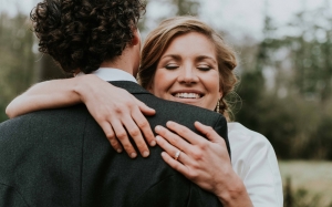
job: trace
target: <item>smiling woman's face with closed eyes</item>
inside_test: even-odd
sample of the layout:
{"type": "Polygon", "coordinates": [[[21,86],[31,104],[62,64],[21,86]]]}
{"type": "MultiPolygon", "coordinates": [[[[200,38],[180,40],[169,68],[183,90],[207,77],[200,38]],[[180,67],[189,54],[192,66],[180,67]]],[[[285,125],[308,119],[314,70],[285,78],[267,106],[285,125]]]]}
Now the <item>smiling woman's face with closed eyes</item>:
{"type": "Polygon", "coordinates": [[[149,91],[164,100],[215,110],[221,92],[212,42],[198,32],[176,37],[157,64],[149,91]]]}

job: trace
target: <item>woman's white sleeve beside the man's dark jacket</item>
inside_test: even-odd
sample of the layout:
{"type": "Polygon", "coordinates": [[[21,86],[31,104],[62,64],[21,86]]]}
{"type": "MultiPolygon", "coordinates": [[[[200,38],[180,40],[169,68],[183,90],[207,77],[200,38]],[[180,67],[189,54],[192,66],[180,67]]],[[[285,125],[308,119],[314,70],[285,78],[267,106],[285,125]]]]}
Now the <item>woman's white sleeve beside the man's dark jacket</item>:
{"type": "Polygon", "coordinates": [[[270,142],[240,123],[228,123],[231,164],[255,207],[282,207],[282,182],[270,142]]]}

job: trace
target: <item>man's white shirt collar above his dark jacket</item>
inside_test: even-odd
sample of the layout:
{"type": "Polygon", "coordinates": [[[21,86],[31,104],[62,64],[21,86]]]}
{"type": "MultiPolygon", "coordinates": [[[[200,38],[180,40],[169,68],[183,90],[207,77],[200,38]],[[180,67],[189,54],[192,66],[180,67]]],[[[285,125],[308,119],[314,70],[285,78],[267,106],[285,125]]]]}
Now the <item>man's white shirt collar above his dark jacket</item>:
{"type": "MultiPolygon", "coordinates": [[[[80,72],[75,76],[82,76],[85,73],[80,72]]],[[[94,74],[104,81],[132,81],[137,83],[136,79],[132,74],[120,69],[100,68],[98,70],[93,71],[91,74],[94,74]]]]}

